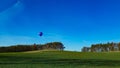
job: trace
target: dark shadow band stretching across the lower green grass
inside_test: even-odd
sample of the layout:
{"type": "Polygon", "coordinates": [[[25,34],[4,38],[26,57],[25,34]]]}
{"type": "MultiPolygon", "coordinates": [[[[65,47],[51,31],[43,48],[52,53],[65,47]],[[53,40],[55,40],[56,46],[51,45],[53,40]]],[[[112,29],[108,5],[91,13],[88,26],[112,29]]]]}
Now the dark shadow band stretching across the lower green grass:
{"type": "Polygon", "coordinates": [[[87,65],[87,66],[120,66],[119,60],[97,59],[53,59],[45,57],[0,56],[0,64],[56,64],[56,65],[87,65]]]}

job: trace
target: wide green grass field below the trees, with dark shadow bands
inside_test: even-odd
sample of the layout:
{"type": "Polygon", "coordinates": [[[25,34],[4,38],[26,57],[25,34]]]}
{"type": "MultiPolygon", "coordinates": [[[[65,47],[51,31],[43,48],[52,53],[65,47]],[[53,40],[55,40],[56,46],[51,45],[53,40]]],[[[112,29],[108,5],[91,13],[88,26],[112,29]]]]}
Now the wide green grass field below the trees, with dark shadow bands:
{"type": "Polygon", "coordinates": [[[120,68],[120,52],[33,51],[0,53],[0,68],[120,68]]]}

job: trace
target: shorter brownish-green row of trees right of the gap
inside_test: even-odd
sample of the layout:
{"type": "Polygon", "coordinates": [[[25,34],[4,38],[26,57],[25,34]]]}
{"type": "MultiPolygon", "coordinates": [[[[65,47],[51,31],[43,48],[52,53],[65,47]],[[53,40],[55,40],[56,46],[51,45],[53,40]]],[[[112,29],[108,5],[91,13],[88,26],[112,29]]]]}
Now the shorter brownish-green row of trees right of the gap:
{"type": "Polygon", "coordinates": [[[91,47],[83,47],[82,52],[110,52],[120,51],[120,43],[92,44],[91,47]]]}

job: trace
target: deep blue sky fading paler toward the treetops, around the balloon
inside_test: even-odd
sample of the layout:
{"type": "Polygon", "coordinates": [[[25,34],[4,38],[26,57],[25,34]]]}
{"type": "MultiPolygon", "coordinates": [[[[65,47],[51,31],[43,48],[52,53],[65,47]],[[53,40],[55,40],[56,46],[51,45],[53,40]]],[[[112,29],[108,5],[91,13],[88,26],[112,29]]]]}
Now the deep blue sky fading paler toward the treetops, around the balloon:
{"type": "Polygon", "coordinates": [[[0,0],[0,46],[54,41],[73,51],[120,42],[120,1],[0,0]]]}

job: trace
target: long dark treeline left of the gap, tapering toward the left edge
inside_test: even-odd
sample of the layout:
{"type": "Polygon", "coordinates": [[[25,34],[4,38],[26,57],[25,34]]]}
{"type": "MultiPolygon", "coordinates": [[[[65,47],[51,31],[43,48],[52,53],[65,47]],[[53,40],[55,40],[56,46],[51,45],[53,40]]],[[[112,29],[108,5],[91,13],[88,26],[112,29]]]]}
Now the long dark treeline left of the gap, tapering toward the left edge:
{"type": "Polygon", "coordinates": [[[51,42],[46,44],[33,44],[33,45],[14,45],[8,47],[0,47],[0,52],[23,52],[44,49],[64,50],[64,45],[61,42],[51,42]]]}

